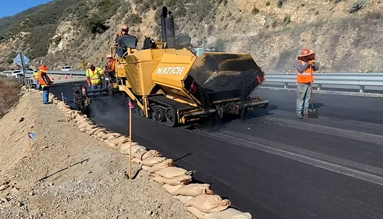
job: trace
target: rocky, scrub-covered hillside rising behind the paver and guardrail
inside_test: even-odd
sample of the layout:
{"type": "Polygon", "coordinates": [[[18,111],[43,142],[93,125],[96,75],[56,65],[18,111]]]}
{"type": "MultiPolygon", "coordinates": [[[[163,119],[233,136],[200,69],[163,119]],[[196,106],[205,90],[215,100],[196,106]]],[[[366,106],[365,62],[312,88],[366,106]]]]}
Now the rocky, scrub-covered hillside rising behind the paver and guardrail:
{"type": "Polygon", "coordinates": [[[119,27],[160,39],[162,5],[195,46],[249,52],[266,71],[293,70],[304,47],[326,72],[381,72],[381,0],[56,0],[0,20],[0,66],[25,48],[50,69],[103,64],[119,27]]]}

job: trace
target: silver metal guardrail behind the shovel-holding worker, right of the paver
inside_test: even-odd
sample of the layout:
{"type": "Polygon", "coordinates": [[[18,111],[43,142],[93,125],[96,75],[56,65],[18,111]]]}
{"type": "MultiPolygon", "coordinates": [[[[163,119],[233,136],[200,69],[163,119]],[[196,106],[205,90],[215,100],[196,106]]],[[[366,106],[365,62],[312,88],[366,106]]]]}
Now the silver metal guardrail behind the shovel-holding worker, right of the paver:
{"type": "MultiPolygon", "coordinates": [[[[296,73],[266,73],[265,82],[296,83],[296,73]]],[[[359,93],[365,92],[366,86],[383,87],[383,73],[315,73],[314,85],[321,90],[322,85],[352,85],[359,87],[359,93]]]]}

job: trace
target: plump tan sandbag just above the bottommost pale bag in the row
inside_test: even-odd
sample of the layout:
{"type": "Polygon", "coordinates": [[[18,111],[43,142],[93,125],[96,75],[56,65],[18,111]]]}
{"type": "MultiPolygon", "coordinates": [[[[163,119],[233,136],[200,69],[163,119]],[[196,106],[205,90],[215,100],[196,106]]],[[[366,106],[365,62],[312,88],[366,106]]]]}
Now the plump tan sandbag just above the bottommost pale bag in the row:
{"type": "Polygon", "coordinates": [[[220,212],[230,205],[231,202],[228,199],[222,199],[216,194],[200,194],[185,203],[185,206],[194,207],[204,213],[220,212]]]}

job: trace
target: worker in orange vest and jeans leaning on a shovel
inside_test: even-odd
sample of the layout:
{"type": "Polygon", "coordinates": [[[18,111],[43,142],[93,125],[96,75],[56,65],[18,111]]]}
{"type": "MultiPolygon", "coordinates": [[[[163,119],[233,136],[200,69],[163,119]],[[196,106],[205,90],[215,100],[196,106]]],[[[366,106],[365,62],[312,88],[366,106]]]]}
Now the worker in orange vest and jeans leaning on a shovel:
{"type": "Polygon", "coordinates": [[[314,71],[319,70],[319,64],[315,61],[315,53],[309,49],[303,49],[302,54],[296,61],[296,70],[298,75],[297,98],[296,98],[296,116],[300,119],[308,115],[311,83],[314,82],[314,71]],[[302,115],[303,112],[303,115],[302,115]]]}

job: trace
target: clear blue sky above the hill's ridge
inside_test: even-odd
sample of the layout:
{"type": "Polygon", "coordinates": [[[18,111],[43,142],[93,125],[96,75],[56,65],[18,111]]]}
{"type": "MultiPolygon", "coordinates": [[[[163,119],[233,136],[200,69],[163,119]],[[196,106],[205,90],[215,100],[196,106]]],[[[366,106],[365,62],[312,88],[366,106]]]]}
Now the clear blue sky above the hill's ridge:
{"type": "Polygon", "coordinates": [[[0,18],[15,15],[25,9],[51,1],[52,0],[0,0],[0,18]]]}

